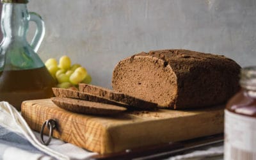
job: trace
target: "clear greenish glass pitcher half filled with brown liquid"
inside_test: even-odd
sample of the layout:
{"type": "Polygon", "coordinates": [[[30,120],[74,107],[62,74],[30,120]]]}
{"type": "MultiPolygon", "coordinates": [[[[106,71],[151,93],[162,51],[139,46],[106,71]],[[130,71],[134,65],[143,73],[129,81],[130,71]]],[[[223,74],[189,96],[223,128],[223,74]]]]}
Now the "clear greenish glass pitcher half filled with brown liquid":
{"type": "Polygon", "coordinates": [[[56,81],[49,74],[36,51],[45,33],[44,21],[28,12],[28,0],[2,0],[0,44],[0,101],[20,110],[24,100],[52,97],[56,81]],[[29,21],[36,23],[31,44],[26,40],[29,21]]]}

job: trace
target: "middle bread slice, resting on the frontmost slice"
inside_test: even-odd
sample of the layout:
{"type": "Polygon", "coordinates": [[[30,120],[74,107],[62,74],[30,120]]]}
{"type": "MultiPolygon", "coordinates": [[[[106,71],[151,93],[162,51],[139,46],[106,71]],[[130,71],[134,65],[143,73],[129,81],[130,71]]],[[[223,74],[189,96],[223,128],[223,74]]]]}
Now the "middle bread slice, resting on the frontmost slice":
{"type": "Polygon", "coordinates": [[[104,99],[102,97],[99,97],[97,95],[92,95],[89,93],[83,93],[79,92],[77,90],[70,90],[70,89],[64,89],[64,88],[52,88],[52,92],[56,97],[68,97],[72,99],[81,99],[81,100],[88,100],[92,102],[100,102],[104,104],[113,104],[116,106],[122,106],[125,108],[129,108],[128,104],[122,103],[122,102],[116,102],[114,100],[104,99]]]}

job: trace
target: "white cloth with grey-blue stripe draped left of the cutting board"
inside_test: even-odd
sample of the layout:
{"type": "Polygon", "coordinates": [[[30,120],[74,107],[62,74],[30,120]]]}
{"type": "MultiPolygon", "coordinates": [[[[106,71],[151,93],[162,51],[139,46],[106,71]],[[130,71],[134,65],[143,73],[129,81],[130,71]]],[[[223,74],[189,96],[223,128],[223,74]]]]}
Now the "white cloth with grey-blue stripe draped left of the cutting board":
{"type": "Polygon", "coordinates": [[[0,159],[86,159],[97,154],[54,138],[49,146],[42,145],[40,135],[8,102],[0,102],[0,136],[0,159]]]}

